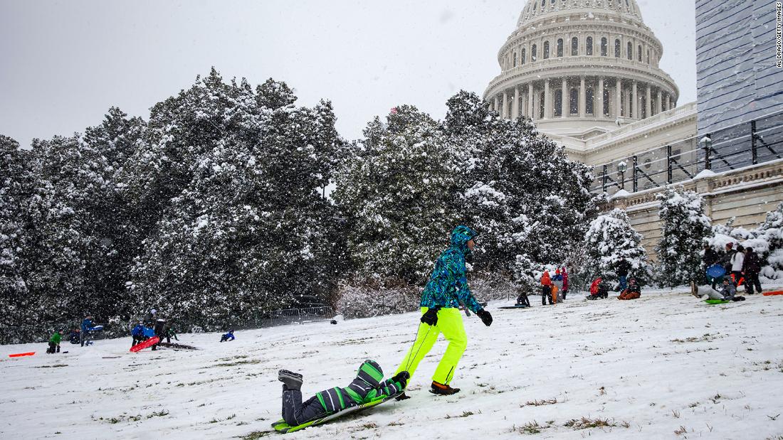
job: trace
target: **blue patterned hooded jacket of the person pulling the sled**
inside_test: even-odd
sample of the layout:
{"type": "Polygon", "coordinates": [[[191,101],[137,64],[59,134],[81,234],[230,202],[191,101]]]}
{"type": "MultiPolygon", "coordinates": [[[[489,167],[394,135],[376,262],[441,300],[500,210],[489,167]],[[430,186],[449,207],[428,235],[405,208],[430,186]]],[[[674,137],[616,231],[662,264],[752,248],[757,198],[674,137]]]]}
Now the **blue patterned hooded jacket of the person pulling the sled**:
{"type": "Polygon", "coordinates": [[[476,238],[478,234],[467,226],[458,226],[451,233],[451,246],[443,251],[435,269],[432,270],[430,281],[421,293],[421,306],[442,309],[458,308],[462,302],[474,313],[482,309],[481,304],[467,288],[467,269],[465,268],[465,256],[470,255],[467,242],[476,238]]]}

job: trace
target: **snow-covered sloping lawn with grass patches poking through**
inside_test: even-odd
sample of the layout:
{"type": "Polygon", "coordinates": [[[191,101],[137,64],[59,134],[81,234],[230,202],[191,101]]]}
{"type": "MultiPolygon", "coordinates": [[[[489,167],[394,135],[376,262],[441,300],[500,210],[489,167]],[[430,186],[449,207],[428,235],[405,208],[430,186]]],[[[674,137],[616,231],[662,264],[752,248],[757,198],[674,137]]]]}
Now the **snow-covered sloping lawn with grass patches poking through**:
{"type": "MultiPolygon", "coordinates": [[[[466,318],[460,394],[426,391],[446,349],[439,342],[413,377],[412,399],[286,438],[783,435],[783,296],[725,306],[671,292],[547,307],[531,299],[525,310],[490,304],[489,328],[466,318]],[[612,426],[566,426],[583,417],[612,426]]],[[[258,438],[280,417],[278,369],[305,374],[305,394],[348,385],[366,358],[391,373],[416,325],[409,313],[242,331],[222,344],[217,334],[182,335],[198,352],[132,354],[130,338],[65,343],[60,355],[4,345],[0,438],[258,438]]]]}

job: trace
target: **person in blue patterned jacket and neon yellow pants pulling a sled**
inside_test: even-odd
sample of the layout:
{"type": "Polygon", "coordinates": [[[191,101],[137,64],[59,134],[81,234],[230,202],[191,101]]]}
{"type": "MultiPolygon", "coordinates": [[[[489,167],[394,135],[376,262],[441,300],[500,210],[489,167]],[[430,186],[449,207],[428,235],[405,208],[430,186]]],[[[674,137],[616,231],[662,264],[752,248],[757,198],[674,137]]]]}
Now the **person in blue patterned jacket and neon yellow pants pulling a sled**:
{"type": "MultiPolygon", "coordinates": [[[[460,302],[471,309],[489,327],[492,315],[474,298],[467,287],[465,257],[471,255],[475,245],[476,231],[467,226],[458,226],[451,233],[451,245],[438,257],[430,280],[421,294],[421,318],[416,341],[400,363],[397,373],[407,371],[410,377],[419,362],[435,345],[439,334],[443,334],[449,346],[432,376],[431,392],[451,395],[460,392],[449,383],[454,377],[457,363],[467,347],[467,334],[460,313],[460,302]]],[[[408,381],[410,384],[410,380],[408,381]]],[[[407,399],[403,395],[399,399],[407,399]]]]}

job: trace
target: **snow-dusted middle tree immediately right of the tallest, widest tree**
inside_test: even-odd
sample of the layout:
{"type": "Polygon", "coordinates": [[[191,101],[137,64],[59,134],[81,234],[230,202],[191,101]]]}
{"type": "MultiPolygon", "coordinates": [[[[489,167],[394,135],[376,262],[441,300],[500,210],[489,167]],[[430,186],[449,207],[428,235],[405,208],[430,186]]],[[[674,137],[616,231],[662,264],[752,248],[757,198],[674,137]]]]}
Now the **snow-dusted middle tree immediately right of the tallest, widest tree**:
{"type": "Polygon", "coordinates": [[[348,249],[363,277],[420,283],[456,226],[449,209],[453,157],[438,123],[412,106],[376,118],[337,177],[333,197],[350,219],[348,249]]]}

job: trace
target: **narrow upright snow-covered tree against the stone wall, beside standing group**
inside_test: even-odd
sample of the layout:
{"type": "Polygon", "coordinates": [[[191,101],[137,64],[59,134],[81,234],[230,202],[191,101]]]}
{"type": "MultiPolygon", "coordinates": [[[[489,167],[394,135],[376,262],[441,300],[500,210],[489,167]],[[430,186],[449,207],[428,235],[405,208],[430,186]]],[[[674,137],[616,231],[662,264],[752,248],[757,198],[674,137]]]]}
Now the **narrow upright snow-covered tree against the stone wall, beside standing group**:
{"type": "Polygon", "coordinates": [[[712,234],[712,221],[704,213],[702,196],[682,188],[667,188],[658,196],[663,234],[655,248],[659,259],[659,281],[675,287],[700,281],[702,249],[712,234]]]}

